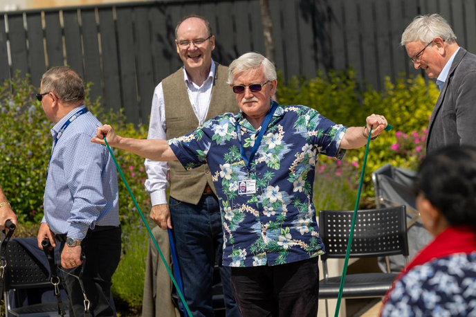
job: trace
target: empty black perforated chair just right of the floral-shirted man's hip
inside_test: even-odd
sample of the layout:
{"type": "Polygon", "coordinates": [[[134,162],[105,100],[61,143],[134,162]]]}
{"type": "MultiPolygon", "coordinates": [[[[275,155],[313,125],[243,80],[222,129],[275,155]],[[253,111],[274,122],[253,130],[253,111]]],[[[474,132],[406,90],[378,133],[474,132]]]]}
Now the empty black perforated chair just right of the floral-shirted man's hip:
{"type": "MultiPolygon", "coordinates": [[[[337,298],[340,276],[329,278],[327,259],[345,258],[354,211],[321,210],[319,230],[326,248],[321,255],[324,279],[319,282],[319,298],[337,298]]],[[[401,254],[408,261],[405,206],[358,210],[350,257],[378,257],[401,254]]],[[[396,273],[350,274],[345,278],[342,298],[385,296],[396,273]]],[[[327,301],[326,301],[327,306],[327,301]]]]}

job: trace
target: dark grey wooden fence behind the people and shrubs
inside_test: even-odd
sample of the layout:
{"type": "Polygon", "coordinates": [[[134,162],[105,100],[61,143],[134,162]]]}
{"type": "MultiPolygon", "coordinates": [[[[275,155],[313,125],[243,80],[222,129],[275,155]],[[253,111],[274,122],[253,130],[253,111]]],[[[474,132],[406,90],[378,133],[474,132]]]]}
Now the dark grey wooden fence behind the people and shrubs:
{"type": "MultiPolygon", "coordinates": [[[[287,80],[354,66],[359,82],[383,87],[413,69],[400,47],[413,17],[438,12],[458,43],[476,52],[476,0],[270,0],[276,65],[287,80]]],[[[52,66],[68,64],[104,107],[148,123],[154,87],[182,63],[174,28],[189,13],[210,20],[214,60],[229,64],[264,53],[259,0],[147,1],[0,12],[0,82],[16,70],[39,86],[52,66]]]]}

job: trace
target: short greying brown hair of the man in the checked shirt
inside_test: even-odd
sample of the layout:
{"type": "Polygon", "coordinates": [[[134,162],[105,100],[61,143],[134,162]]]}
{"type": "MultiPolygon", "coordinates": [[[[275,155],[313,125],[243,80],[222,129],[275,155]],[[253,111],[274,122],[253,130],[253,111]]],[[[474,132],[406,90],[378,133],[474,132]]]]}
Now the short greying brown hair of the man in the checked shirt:
{"type": "Polygon", "coordinates": [[[70,66],[56,66],[43,74],[43,91],[52,91],[64,105],[84,103],[84,82],[70,66]]]}

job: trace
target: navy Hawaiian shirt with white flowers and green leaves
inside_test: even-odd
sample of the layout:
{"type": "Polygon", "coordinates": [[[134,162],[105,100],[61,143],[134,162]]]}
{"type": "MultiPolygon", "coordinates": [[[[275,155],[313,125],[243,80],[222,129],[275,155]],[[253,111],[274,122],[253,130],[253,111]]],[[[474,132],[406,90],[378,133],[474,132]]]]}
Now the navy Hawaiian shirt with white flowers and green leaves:
{"type": "Polygon", "coordinates": [[[249,157],[260,129],[241,112],[223,114],[169,141],[186,170],[210,167],[226,266],[271,266],[324,254],[312,202],[315,162],[318,154],[342,159],[345,150],[338,148],[347,127],[309,107],[279,105],[248,174],[239,145],[249,157]],[[256,181],[255,194],[239,194],[245,179],[256,181]]]}

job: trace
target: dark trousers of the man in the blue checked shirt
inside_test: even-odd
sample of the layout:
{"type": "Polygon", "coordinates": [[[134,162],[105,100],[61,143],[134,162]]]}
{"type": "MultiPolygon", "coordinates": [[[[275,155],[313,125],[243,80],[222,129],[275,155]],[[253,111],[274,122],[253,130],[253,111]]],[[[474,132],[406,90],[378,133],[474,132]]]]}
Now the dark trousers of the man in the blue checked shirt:
{"type": "MultiPolygon", "coordinates": [[[[82,252],[86,255],[86,264],[82,282],[86,296],[91,302],[89,310],[93,317],[115,316],[109,298],[111,298],[111,278],[120,261],[120,228],[108,230],[89,230],[82,240],[82,252]]],[[[64,242],[61,245],[64,248],[64,242]]],[[[79,275],[81,266],[65,270],[79,275]]],[[[84,316],[84,296],[77,278],[62,273],[63,287],[68,294],[69,316],[84,316]]]]}

